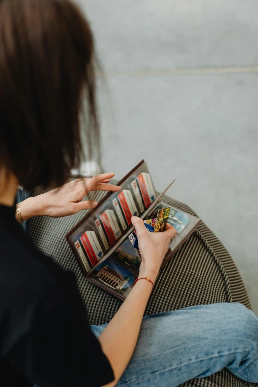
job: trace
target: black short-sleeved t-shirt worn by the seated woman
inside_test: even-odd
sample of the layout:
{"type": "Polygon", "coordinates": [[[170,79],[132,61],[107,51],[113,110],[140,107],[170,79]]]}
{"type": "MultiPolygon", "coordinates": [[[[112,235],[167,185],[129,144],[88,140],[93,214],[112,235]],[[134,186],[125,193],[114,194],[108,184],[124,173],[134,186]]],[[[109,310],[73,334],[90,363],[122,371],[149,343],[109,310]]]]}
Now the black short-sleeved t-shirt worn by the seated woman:
{"type": "Polygon", "coordinates": [[[36,250],[14,215],[0,205],[0,386],[112,382],[74,275],[36,250]]]}

